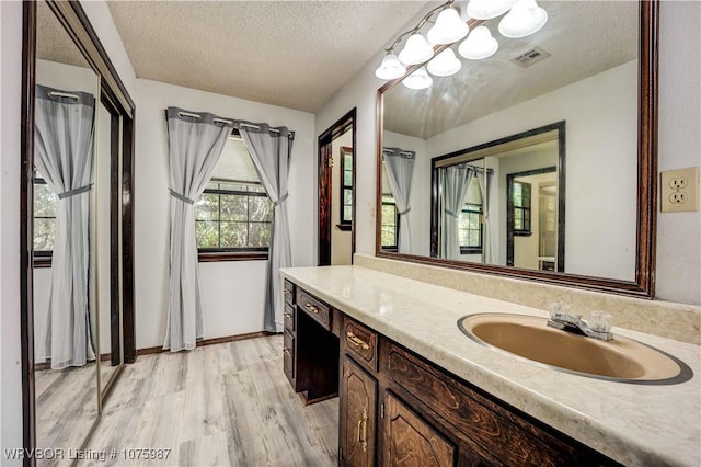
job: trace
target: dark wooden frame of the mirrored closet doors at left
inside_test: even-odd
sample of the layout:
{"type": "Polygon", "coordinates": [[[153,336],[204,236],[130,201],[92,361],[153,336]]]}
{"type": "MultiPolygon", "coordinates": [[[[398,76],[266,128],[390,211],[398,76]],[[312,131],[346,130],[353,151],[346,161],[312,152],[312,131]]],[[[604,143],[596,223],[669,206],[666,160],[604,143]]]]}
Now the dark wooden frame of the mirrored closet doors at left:
{"type": "MultiPolygon", "coordinates": [[[[105,48],[79,2],[44,0],[64,26],[83,57],[99,75],[101,94],[106,96],[122,116],[122,344],[123,365],[99,394],[97,407],[114,388],[124,363],[136,360],[134,322],[134,117],[136,105],[122,82],[105,48]]],[[[36,83],[36,3],[22,5],[22,114],[21,114],[21,180],[20,180],[20,327],[22,349],[22,444],[25,449],[36,447],[36,408],[34,387],[34,298],[33,298],[33,167],[34,167],[34,88],[36,83]]],[[[102,96],[95,96],[95,99],[102,96]]],[[[112,351],[112,350],[111,350],[112,351]]],[[[100,414],[88,434],[90,436],[100,414]]],[[[24,465],[35,465],[35,457],[25,457],[24,465]]]]}

